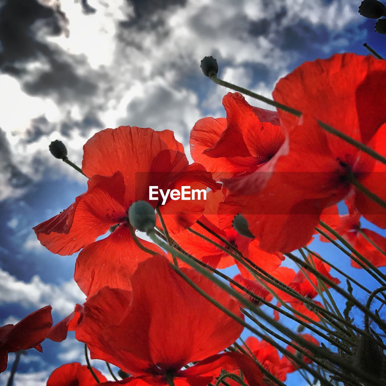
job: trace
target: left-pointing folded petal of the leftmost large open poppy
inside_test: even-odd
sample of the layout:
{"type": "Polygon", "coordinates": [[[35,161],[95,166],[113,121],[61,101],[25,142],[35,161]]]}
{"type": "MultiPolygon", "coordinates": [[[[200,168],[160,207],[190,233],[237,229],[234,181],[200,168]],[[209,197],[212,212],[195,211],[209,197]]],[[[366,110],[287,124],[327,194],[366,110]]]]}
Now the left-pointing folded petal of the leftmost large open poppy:
{"type": "Polygon", "coordinates": [[[120,173],[90,178],[88,190],[75,203],[33,228],[37,238],[49,251],[62,256],[79,251],[125,217],[124,193],[120,173]]]}

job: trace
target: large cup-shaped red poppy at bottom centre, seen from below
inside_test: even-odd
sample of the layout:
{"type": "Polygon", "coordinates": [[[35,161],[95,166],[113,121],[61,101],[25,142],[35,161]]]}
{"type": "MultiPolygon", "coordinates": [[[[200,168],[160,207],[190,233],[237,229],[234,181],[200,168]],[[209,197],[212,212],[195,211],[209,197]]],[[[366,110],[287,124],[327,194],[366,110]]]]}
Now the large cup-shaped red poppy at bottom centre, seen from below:
{"type": "MultiPolygon", "coordinates": [[[[222,289],[193,269],[181,270],[242,317],[237,302],[222,289]]],[[[173,376],[204,386],[213,379],[210,372],[218,369],[218,376],[221,368],[227,367],[241,368],[250,385],[259,384],[261,374],[255,366],[253,372],[249,369],[254,365],[250,358],[234,353],[217,355],[239,337],[243,327],[191,288],[166,257],[141,262],[131,286],[132,291],[106,287],[86,301],[75,334],[87,343],[91,358],[115,364],[151,384],[167,384],[166,378],[173,376]],[[200,362],[181,370],[195,361],[200,362]]]]}

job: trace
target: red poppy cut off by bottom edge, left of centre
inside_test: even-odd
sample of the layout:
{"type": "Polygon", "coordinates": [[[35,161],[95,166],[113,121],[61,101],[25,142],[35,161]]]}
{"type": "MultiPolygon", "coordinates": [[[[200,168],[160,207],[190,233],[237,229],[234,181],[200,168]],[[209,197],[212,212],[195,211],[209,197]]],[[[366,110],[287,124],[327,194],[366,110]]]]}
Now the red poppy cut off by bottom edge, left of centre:
{"type": "MultiPolygon", "coordinates": [[[[94,367],[93,371],[99,381],[107,381],[105,376],[94,367]]],[[[96,386],[97,384],[88,367],[82,366],[78,362],[67,363],[58,367],[52,371],[47,381],[47,386],[96,386]]]]}

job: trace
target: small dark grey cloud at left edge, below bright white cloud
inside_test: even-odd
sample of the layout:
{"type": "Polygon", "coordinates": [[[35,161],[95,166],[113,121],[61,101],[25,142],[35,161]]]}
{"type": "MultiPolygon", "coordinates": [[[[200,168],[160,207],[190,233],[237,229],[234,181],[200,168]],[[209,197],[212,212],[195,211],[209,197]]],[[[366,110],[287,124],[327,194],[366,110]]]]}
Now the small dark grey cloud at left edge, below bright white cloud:
{"type": "Polygon", "coordinates": [[[22,173],[12,162],[12,153],[5,132],[0,128],[0,169],[2,171],[2,183],[11,188],[19,189],[29,185],[30,178],[22,173]]]}

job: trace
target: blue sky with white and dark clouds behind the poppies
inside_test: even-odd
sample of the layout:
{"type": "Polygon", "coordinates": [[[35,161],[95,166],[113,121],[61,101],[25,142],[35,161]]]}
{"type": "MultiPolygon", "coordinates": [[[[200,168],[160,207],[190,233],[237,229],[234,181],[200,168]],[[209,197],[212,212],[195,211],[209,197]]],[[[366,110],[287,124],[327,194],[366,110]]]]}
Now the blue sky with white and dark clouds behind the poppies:
{"type": "MultiPolygon", "coordinates": [[[[0,0],[0,325],[47,304],[56,323],[84,300],[73,281],[76,254],[52,254],[32,231],[86,190],[84,176],[51,156],[51,141],[62,140],[81,164],[95,132],[136,125],[173,130],[188,154],[195,122],[225,116],[229,90],[202,74],[204,56],[217,58],[220,78],[270,97],[278,79],[304,61],[366,55],[364,42],[386,54],[386,37],[357,13],[360,3],[0,0]]],[[[367,280],[331,245],[312,245],[367,280]]],[[[15,386],[45,385],[61,364],[84,363],[73,334],[43,349],[22,357],[15,386]]]]}

